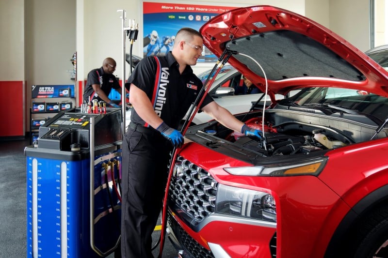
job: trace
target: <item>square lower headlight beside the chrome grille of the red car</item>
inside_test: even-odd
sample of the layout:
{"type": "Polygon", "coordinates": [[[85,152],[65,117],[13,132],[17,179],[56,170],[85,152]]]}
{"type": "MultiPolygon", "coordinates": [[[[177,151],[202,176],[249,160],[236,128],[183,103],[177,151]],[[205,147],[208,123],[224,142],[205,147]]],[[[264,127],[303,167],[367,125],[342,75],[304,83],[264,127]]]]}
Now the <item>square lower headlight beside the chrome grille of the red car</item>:
{"type": "Polygon", "coordinates": [[[215,212],[276,222],[275,198],[264,192],[219,184],[215,212]]]}

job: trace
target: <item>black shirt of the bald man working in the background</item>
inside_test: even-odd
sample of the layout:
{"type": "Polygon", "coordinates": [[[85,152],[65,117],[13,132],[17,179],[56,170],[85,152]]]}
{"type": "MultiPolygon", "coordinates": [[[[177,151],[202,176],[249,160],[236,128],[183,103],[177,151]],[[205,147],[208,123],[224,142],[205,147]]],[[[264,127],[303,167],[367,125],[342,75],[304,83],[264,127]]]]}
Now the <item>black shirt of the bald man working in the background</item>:
{"type": "Polygon", "coordinates": [[[93,84],[99,84],[101,87],[101,90],[104,91],[105,95],[109,95],[113,89],[120,89],[120,84],[118,83],[116,76],[112,74],[106,74],[104,73],[104,69],[102,69],[102,66],[97,69],[93,69],[88,74],[88,79],[86,81],[85,90],[83,91],[83,101],[88,102],[89,96],[90,100],[96,99],[98,101],[101,100],[100,97],[96,94],[96,92],[93,90],[92,85],[93,84]]]}

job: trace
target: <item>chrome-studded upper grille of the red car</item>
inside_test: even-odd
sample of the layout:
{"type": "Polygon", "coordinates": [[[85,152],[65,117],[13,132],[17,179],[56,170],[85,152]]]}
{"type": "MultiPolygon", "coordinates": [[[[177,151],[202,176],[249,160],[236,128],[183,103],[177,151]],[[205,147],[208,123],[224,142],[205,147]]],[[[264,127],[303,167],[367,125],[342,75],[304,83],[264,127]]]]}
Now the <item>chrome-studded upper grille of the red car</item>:
{"type": "Polygon", "coordinates": [[[169,197],[183,212],[200,222],[215,211],[218,182],[204,169],[178,156],[169,197]]]}

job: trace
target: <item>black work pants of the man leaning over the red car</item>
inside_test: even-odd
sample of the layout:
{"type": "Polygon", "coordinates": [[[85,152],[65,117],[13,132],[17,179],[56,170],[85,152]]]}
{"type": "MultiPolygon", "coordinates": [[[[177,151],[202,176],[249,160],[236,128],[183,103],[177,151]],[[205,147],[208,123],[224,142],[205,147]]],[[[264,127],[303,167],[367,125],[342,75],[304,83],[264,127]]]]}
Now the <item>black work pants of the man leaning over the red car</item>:
{"type": "Polygon", "coordinates": [[[172,146],[153,129],[128,128],[122,148],[121,255],[150,258],[172,146]],[[141,129],[141,131],[139,131],[141,129]]]}

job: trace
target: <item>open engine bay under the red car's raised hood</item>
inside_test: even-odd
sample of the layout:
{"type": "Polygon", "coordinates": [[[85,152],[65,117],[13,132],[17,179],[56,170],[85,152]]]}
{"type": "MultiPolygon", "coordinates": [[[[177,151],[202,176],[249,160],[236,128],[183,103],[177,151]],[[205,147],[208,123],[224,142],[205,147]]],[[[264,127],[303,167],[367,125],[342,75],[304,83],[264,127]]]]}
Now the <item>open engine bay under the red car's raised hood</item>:
{"type": "MultiPolygon", "coordinates": [[[[196,130],[196,136],[201,138],[199,141],[212,149],[221,150],[223,147],[226,148],[223,146],[226,144],[228,149],[233,149],[231,148],[233,146],[254,152],[260,157],[322,154],[356,143],[355,138],[343,133],[343,130],[298,120],[275,119],[278,116],[276,113],[269,114],[264,126],[259,116],[253,116],[245,121],[249,127],[263,132],[264,137],[259,141],[232,131],[216,121],[194,126],[191,132],[194,133],[196,130]],[[276,121],[276,125],[273,121],[276,121]]],[[[192,137],[190,133],[188,137],[192,137]]],[[[198,142],[198,139],[194,141],[198,142]]]]}

